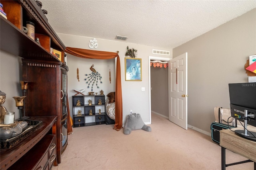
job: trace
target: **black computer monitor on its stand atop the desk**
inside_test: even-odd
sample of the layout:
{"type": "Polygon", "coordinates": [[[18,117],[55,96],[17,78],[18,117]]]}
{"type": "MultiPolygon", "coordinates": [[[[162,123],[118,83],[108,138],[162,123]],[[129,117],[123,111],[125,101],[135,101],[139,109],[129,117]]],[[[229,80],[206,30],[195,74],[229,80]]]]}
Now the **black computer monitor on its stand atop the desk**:
{"type": "Polygon", "coordinates": [[[247,132],[247,124],[256,127],[256,83],[232,83],[229,86],[230,111],[232,117],[244,121],[244,130],[236,134],[256,141],[256,132],[247,132]]]}

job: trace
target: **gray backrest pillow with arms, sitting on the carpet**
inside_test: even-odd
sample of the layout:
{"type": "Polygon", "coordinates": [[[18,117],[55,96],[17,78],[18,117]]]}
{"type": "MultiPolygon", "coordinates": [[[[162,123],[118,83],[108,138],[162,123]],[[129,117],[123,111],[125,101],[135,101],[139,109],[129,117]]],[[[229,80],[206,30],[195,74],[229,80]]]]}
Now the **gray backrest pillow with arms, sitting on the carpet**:
{"type": "Polygon", "coordinates": [[[151,131],[151,127],[145,125],[140,117],[140,114],[132,113],[127,116],[124,124],[124,134],[129,135],[132,130],[142,129],[144,131],[151,131]]]}

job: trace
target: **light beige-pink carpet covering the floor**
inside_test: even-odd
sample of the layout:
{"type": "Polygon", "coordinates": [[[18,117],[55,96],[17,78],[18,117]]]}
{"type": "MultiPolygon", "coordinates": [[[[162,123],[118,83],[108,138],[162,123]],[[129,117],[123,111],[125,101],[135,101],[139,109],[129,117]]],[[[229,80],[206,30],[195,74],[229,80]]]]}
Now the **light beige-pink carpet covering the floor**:
{"type": "MultiPolygon", "coordinates": [[[[211,137],[184,130],[152,113],[151,132],[124,134],[113,125],[73,128],[61,163],[52,170],[220,170],[221,147],[211,137]]],[[[209,125],[210,128],[210,125],[209,125]]],[[[226,163],[247,160],[226,150],[226,163]]],[[[226,170],[253,170],[253,162],[226,170]]]]}

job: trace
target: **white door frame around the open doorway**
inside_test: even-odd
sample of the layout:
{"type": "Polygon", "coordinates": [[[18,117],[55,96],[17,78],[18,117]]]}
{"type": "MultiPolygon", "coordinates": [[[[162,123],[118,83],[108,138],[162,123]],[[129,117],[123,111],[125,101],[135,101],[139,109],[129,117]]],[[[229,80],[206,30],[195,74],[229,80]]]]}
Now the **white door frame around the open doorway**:
{"type": "MultiPolygon", "coordinates": [[[[168,61],[168,100],[169,100],[169,98],[170,98],[170,92],[169,92],[169,86],[170,86],[170,81],[169,81],[169,71],[170,71],[169,70],[169,63],[170,63],[171,59],[170,58],[164,58],[164,57],[148,56],[149,124],[151,124],[151,70],[150,70],[150,60],[168,61]]],[[[168,105],[168,110],[169,110],[169,105],[168,105]]]]}

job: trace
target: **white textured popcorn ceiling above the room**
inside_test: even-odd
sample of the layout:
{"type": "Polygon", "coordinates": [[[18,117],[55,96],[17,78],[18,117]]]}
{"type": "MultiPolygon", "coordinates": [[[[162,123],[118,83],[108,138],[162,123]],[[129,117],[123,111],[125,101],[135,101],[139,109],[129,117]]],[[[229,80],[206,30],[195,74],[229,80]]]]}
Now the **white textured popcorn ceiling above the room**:
{"type": "Polygon", "coordinates": [[[56,33],[173,49],[256,8],[256,0],[40,0],[56,33]],[[122,40],[116,40],[122,41],[122,40]]]}

